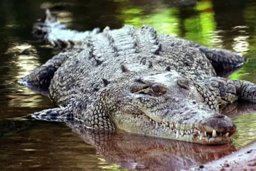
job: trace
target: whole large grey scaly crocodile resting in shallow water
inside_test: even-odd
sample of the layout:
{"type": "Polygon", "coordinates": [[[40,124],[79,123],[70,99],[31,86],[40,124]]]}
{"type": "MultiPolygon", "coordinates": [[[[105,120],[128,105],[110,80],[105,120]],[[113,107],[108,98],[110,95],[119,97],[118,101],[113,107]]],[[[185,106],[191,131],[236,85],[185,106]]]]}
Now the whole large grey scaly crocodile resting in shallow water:
{"type": "Polygon", "coordinates": [[[92,129],[223,144],[236,126],[218,105],[255,100],[253,83],[217,77],[243,65],[241,55],[158,35],[148,26],[68,30],[46,14],[33,33],[66,52],[20,80],[49,86],[59,106],[33,114],[38,119],[74,117],[92,129]]]}

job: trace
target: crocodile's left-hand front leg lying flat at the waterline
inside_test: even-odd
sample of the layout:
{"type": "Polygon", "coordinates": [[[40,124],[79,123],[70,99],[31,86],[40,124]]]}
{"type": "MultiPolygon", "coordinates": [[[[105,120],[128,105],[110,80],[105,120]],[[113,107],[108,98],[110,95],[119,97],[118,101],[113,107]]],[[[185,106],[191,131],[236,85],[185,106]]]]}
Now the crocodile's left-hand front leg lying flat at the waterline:
{"type": "Polygon", "coordinates": [[[71,121],[73,119],[73,109],[72,107],[45,109],[40,112],[33,113],[32,117],[47,121],[71,121]]]}

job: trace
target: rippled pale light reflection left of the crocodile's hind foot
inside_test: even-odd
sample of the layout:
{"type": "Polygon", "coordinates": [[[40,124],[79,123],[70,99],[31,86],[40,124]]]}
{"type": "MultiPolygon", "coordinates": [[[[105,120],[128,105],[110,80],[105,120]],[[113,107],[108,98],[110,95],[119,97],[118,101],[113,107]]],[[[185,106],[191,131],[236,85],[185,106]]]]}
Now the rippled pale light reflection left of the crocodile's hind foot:
{"type": "Polygon", "coordinates": [[[42,101],[35,92],[21,87],[18,84],[14,84],[16,80],[19,80],[23,76],[29,74],[40,65],[39,58],[36,53],[36,48],[29,44],[15,45],[6,50],[6,55],[14,56],[14,61],[12,62],[13,69],[8,72],[8,75],[14,76],[10,79],[7,78],[8,75],[6,75],[6,80],[3,83],[8,87],[8,91],[12,92],[5,96],[5,98],[8,99],[8,107],[10,108],[38,106],[42,101]],[[24,98],[27,96],[30,98],[24,98]]]}

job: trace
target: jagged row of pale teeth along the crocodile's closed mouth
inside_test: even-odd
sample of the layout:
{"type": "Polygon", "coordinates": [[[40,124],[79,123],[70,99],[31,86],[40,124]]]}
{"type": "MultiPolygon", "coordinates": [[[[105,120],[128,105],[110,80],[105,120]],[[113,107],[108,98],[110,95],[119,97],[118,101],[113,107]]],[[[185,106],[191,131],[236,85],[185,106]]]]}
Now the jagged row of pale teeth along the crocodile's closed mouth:
{"type": "Polygon", "coordinates": [[[194,138],[199,138],[199,140],[203,140],[204,138],[207,138],[208,140],[211,139],[229,139],[231,136],[231,133],[229,132],[218,132],[216,130],[212,130],[212,132],[206,132],[206,131],[200,131],[196,127],[192,127],[191,129],[177,129],[177,124],[173,124],[170,122],[156,122],[149,116],[147,116],[149,119],[150,124],[155,125],[155,128],[157,129],[158,127],[161,127],[163,129],[170,129],[176,134],[176,138],[178,136],[184,136],[184,135],[190,135],[193,136],[194,138]]]}

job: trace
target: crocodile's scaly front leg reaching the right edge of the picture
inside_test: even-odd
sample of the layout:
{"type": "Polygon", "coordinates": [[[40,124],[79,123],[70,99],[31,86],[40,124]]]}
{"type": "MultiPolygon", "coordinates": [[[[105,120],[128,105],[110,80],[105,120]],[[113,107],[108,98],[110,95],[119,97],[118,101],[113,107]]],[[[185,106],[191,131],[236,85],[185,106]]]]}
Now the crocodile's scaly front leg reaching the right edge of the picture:
{"type": "Polygon", "coordinates": [[[219,104],[236,100],[256,101],[256,84],[252,82],[214,77],[207,80],[206,84],[215,91],[219,104]]]}

